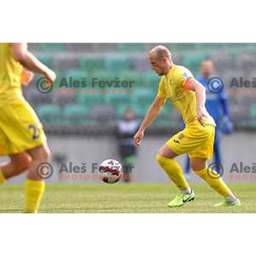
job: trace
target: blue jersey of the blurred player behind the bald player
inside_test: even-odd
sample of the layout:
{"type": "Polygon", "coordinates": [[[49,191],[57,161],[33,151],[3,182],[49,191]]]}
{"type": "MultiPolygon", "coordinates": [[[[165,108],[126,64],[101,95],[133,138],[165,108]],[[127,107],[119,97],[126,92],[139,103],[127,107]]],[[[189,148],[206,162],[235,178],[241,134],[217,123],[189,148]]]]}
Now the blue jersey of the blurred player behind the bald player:
{"type": "Polygon", "coordinates": [[[206,89],[206,102],[205,107],[208,111],[208,113],[213,117],[213,119],[216,122],[217,127],[219,126],[220,119],[221,119],[221,112],[220,112],[220,105],[222,105],[224,115],[229,116],[228,110],[227,110],[227,96],[226,93],[223,90],[220,93],[211,93],[207,88],[207,81],[209,79],[204,78],[202,76],[196,76],[195,79],[197,79],[206,89]]]}

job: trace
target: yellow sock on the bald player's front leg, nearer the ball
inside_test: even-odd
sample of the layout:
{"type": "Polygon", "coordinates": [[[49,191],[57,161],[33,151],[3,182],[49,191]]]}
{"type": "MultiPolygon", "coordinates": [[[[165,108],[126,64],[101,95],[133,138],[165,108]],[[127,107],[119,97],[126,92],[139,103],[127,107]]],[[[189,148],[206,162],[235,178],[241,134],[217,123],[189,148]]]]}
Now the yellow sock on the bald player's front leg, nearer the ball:
{"type": "Polygon", "coordinates": [[[183,171],[176,160],[157,155],[157,162],[167,173],[168,177],[181,190],[181,192],[191,191],[190,186],[183,175],[183,171]]]}

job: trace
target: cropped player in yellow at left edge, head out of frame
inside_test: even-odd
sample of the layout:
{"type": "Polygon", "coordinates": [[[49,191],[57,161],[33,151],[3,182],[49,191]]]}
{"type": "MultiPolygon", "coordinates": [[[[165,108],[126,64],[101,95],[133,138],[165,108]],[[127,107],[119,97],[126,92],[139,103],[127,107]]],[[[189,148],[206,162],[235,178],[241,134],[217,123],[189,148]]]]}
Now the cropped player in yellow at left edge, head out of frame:
{"type": "MultiPolygon", "coordinates": [[[[0,43],[0,184],[27,170],[24,212],[36,213],[45,189],[38,177],[39,163],[48,162],[50,151],[38,116],[23,98],[24,68],[55,81],[55,73],[27,50],[25,43],[0,43]]],[[[24,81],[25,82],[24,82],[24,81]]],[[[41,169],[44,172],[44,169],[41,169]]]]}

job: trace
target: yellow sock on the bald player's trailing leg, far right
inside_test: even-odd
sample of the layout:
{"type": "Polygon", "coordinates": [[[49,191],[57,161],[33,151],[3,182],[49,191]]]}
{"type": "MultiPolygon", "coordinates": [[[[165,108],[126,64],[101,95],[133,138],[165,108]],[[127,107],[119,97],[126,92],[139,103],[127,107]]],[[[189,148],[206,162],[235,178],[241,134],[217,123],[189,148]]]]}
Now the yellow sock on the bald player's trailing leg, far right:
{"type": "Polygon", "coordinates": [[[207,174],[207,168],[204,168],[199,171],[195,171],[195,173],[199,177],[204,179],[216,192],[224,196],[224,198],[236,198],[221,177],[218,179],[214,178],[214,177],[218,177],[218,174],[216,173],[216,175],[214,175],[214,172],[212,172],[212,169],[209,169],[209,173],[211,173],[212,177],[210,177],[207,174]]]}

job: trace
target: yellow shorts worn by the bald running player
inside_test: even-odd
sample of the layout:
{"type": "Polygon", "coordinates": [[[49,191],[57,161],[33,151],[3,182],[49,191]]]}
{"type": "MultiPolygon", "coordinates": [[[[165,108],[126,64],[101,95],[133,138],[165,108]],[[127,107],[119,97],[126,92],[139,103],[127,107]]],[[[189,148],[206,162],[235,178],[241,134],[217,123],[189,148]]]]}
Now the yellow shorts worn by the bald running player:
{"type": "Polygon", "coordinates": [[[167,145],[177,155],[189,154],[189,158],[212,158],[215,137],[214,125],[190,125],[175,134],[167,145]]]}

